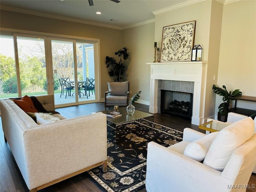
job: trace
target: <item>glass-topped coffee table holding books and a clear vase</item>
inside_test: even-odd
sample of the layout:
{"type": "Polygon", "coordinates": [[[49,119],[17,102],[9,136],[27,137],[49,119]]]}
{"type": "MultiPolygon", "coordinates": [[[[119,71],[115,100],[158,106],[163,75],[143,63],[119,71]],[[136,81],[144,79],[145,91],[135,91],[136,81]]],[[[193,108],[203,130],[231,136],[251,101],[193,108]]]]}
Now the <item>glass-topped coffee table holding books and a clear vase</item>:
{"type": "MultiPolygon", "coordinates": [[[[104,114],[107,114],[107,113],[112,112],[112,111],[113,111],[113,109],[104,110],[104,111],[101,111],[101,112],[104,113],[104,114]]],[[[133,121],[133,120],[140,119],[140,118],[146,118],[146,117],[153,116],[153,114],[142,112],[142,111],[139,111],[139,110],[136,110],[136,109],[135,109],[135,112],[134,112],[133,115],[128,115],[127,112],[126,112],[126,107],[119,108],[119,112],[122,113],[122,116],[116,117],[116,118],[107,117],[107,120],[109,122],[112,122],[113,124],[116,125],[116,143],[120,142],[119,138],[120,138],[120,135],[122,134],[122,129],[120,129],[118,127],[118,124],[133,121]]]]}

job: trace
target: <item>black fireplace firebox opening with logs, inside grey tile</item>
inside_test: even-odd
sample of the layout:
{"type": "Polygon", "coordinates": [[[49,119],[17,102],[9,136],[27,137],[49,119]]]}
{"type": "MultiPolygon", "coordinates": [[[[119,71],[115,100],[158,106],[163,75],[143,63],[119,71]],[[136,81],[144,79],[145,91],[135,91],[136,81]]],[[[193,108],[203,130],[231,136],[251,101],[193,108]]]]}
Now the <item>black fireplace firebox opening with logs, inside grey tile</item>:
{"type": "Polygon", "coordinates": [[[191,120],[193,101],[192,93],[161,90],[160,97],[161,114],[191,120]]]}

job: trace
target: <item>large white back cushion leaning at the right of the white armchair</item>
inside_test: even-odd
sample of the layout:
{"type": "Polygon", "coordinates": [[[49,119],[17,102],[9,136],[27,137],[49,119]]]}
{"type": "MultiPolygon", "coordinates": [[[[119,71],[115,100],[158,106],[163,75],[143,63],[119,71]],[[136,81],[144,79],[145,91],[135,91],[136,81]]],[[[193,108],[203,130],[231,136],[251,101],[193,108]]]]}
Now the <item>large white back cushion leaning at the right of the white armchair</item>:
{"type": "Polygon", "coordinates": [[[203,164],[222,171],[232,153],[254,134],[254,122],[247,117],[222,129],[213,140],[203,164]]]}

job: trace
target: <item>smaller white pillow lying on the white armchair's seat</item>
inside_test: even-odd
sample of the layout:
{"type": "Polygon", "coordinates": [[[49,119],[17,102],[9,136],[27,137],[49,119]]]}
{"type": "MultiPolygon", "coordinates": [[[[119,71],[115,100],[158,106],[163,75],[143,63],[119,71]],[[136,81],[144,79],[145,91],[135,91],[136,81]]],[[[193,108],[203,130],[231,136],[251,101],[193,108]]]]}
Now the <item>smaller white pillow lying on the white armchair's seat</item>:
{"type": "Polygon", "coordinates": [[[184,155],[201,162],[204,160],[214,138],[218,135],[218,133],[219,132],[213,132],[198,140],[195,140],[194,142],[191,142],[188,144],[188,146],[186,146],[184,155]]]}

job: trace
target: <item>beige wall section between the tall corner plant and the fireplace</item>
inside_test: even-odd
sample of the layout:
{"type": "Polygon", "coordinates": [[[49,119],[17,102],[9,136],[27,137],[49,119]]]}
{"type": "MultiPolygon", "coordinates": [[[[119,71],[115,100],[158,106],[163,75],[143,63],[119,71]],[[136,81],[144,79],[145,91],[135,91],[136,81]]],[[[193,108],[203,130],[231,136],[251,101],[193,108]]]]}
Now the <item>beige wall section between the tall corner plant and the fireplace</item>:
{"type": "Polygon", "coordinates": [[[130,52],[126,74],[131,96],[141,90],[138,102],[147,105],[150,100],[150,65],[146,63],[154,61],[154,28],[155,24],[150,23],[123,30],[123,46],[130,52]]]}

